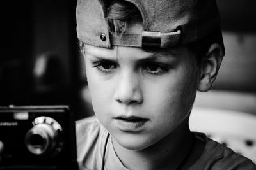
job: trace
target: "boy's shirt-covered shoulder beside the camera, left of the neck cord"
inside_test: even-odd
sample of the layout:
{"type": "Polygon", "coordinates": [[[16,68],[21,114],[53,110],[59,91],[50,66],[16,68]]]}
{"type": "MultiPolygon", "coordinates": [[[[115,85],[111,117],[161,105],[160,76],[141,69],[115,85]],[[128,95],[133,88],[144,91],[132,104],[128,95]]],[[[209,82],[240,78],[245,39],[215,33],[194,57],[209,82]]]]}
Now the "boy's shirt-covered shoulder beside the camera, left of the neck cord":
{"type": "Polygon", "coordinates": [[[87,169],[99,169],[102,142],[108,132],[96,117],[84,118],[76,122],[77,162],[87,169]]]}

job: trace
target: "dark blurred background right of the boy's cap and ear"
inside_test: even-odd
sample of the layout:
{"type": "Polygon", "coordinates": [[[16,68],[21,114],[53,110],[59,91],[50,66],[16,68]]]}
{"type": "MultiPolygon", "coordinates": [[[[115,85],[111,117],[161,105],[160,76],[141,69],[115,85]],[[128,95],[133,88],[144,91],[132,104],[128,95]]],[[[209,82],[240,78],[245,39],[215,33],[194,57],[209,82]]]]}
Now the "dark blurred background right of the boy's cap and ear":
{"type": "Polygon", "coordinates": [[[217,0],[217,3],[226,55],[213,89],[255,95],[256,1],[217,0]]]}

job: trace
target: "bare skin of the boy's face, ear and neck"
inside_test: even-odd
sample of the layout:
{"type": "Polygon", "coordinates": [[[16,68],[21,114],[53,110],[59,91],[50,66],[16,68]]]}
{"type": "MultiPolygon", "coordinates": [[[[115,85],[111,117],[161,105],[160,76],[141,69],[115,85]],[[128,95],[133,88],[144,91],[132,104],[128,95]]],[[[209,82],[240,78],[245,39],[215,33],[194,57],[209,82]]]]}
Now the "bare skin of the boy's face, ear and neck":
{"type": "MultiPolygon", "coordinates": [[[[136,34],[141,25],[132,25],[129,31],[136,34]]],[[[176,169],[187,155],[184,167],[200,157],[204,143],[189,131],[189,114],[196,90],[211,89],[222,57],[218,44],[210,46],[200,66],[196,53],[185,46],[146,52],[86,45],[93,109],[125,167],[176,169]]]]}

